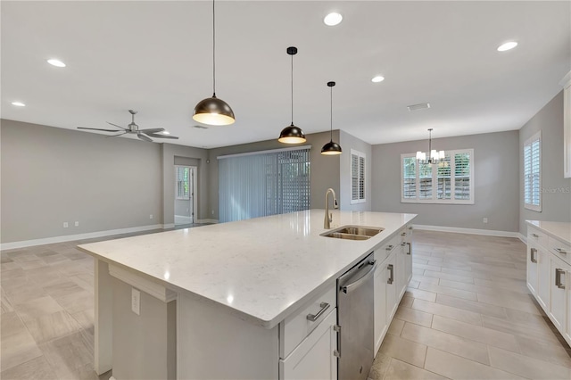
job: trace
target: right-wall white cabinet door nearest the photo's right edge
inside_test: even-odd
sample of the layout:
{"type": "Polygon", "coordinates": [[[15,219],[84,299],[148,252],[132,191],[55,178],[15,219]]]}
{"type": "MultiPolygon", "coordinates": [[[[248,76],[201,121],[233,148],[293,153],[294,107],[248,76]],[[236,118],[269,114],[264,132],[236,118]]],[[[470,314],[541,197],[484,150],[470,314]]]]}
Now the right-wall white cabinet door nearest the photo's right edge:
{"type": "Polygon", "coordinates": [[[550,259],[551,283],[549,315],[553,325],[562,332],[567,322],[567,273],[569,266],[554,255],[551,255],[550,259]]]}

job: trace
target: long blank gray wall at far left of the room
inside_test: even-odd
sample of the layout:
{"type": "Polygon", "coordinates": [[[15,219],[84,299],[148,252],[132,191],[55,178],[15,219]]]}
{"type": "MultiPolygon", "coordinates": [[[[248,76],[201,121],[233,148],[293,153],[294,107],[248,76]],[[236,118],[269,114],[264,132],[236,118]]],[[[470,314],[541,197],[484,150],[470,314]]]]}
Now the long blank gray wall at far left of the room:
{"type": "Polygon", "coordinates": [[[161,145],[12,120],[0,136],[2,243],[162,223],[161,145]]]}

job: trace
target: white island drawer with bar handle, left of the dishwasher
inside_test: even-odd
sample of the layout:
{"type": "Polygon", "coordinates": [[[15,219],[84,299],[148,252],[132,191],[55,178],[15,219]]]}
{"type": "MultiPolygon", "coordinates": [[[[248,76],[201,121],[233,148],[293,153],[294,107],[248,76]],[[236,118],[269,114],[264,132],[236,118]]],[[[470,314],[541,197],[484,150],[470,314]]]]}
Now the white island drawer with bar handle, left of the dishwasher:
{"type": "Polygon", "coordinates": [[[311,299],[300,310],[285,318],[279,324],[279,356],[285,359],[290,352],[294,351],[302,340],[310,335],[321,321],[327,317],[331,310],[337,306],[336,284],[331,285],[324,293],[311,299]],[[327,305],[328,306],[327,306],[327,305]],[[321,310],[321,314],[318,314],[321,310]],[[308,319],[308,316],[318,316],[315,321],[308,319]]]}

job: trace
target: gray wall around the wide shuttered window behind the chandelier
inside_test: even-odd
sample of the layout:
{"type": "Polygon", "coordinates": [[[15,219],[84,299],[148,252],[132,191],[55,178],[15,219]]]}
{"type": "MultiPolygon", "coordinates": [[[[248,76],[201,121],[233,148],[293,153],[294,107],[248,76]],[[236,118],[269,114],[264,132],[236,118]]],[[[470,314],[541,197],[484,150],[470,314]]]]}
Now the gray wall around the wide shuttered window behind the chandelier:
{"type": "Polygon", "coordinates": [[[373,145],[373,211],[416,213],[415,224],[428,226],[518,231],[518,141],[517,131],[433,139],[437,150],[474,149],[474,204],[401,203],[401,153],[424,152],[428,141],[373,145]]]}

